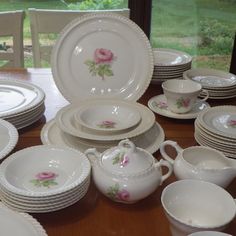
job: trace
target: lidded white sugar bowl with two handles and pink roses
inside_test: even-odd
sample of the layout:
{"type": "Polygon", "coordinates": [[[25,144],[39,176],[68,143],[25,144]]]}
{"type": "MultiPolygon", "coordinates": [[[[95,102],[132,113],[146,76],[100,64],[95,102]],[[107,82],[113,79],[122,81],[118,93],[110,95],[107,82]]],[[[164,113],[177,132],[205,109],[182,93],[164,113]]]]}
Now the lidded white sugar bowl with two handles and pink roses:
{"type": "Polygon", "coordinates": [[[103,153],[95,148],[85,151],[92,164],[96,187],[115,202],[135,203],[151,193],[171,174],[172,165],[157,161],[149,152],[128,139],[103,153]],[[162,167],[168,171],[162,175],[162,167]]]}

